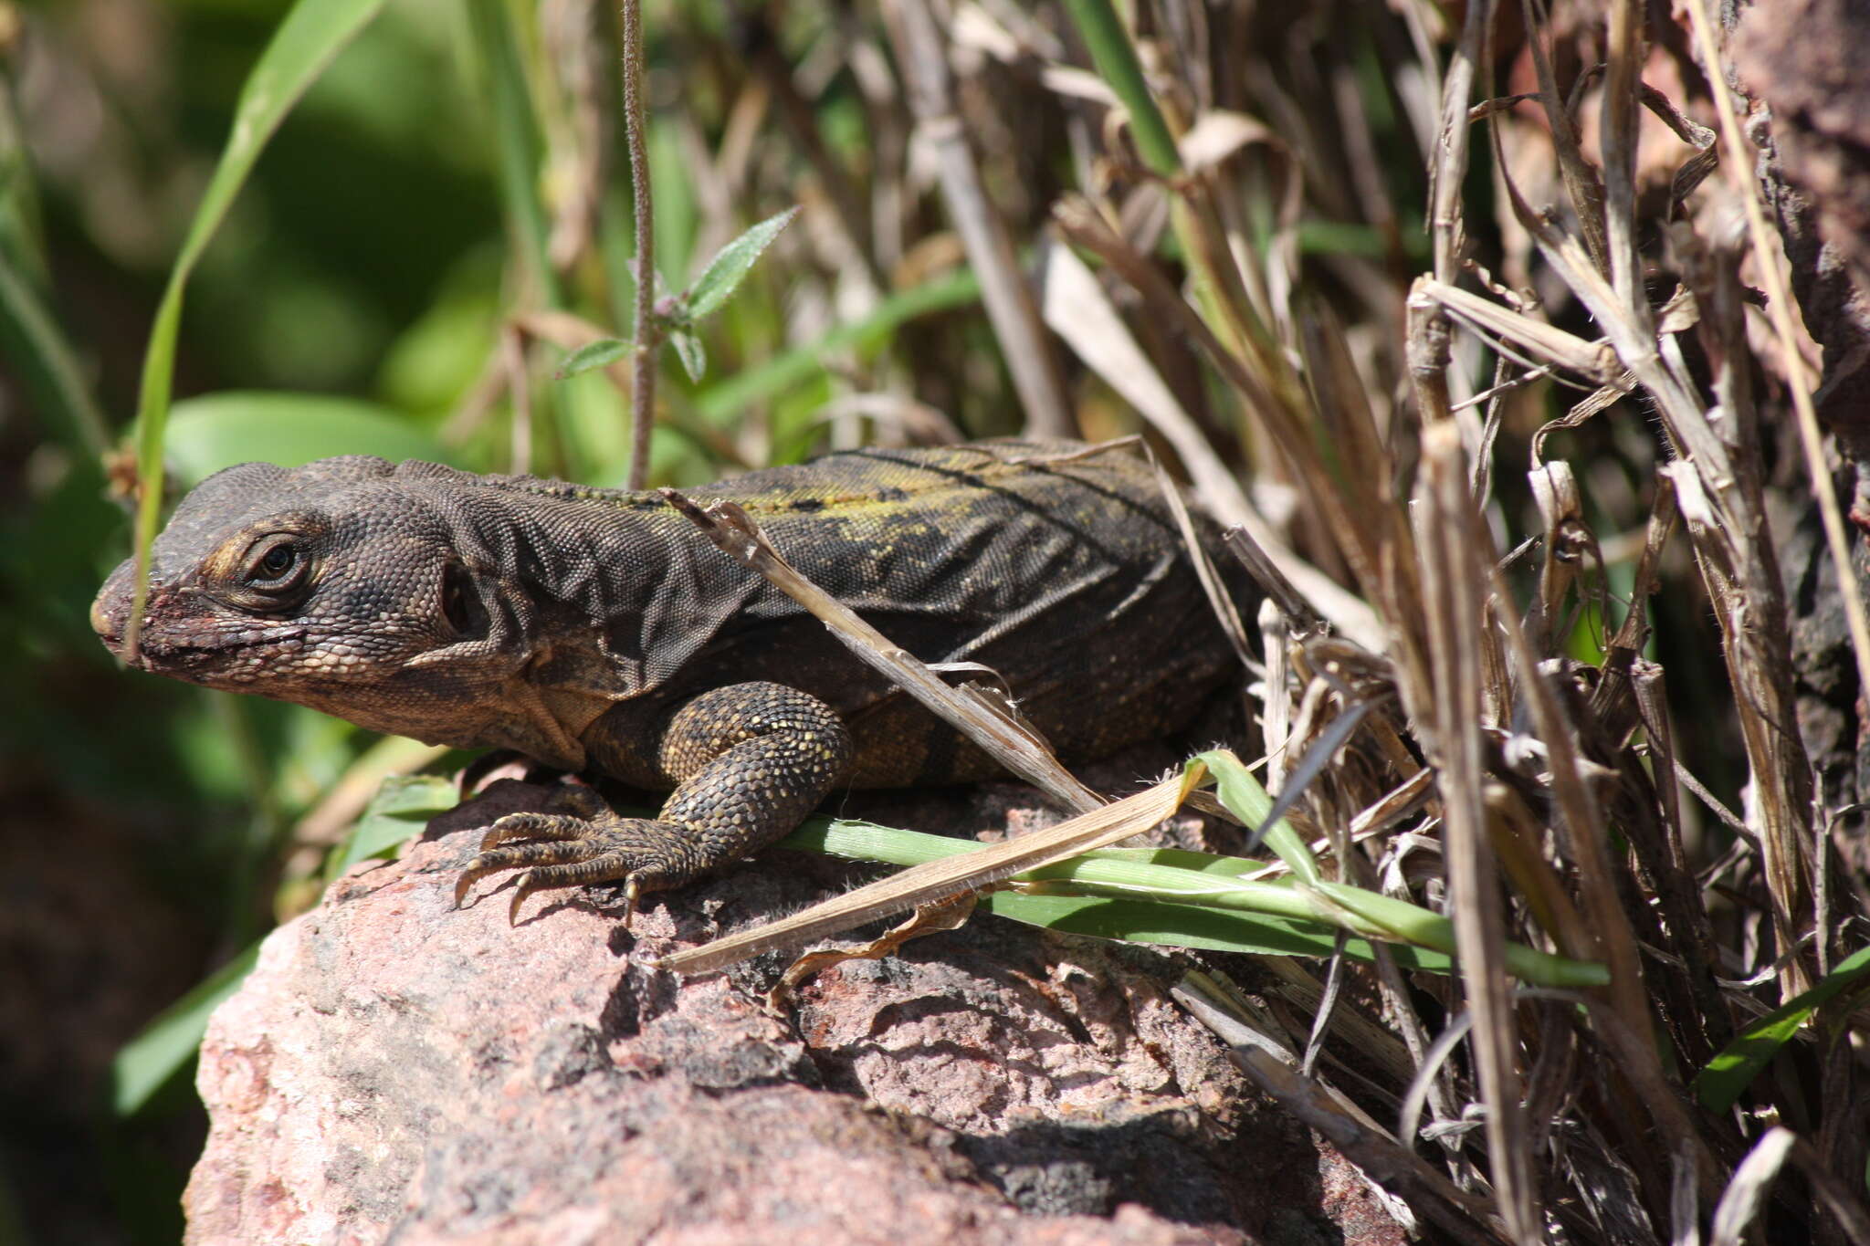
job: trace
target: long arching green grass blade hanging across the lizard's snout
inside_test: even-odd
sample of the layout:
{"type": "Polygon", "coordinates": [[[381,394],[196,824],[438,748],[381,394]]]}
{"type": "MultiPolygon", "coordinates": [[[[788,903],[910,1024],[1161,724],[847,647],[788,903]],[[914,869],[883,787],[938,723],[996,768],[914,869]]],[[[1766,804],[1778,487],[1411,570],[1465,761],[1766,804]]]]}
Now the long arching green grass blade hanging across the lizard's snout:
{"type": "Polygon", "coordinates": [[[142,390],[137,400],[137,471],[142,482],[142,504],[137,508],[135,616],[142,615],[150,545],[163,516],[163,430],[168,424],[176,338],[181,331],[181,291],[189,284],[189,273],[221,228],[234,196],[239,194],[279,123],[381,7],[383,0],[297,0],[241,86],[228,144],[194,209],[194,220],[189,222],[189,235],[181,243],[181,254],[176,256],[176,267],[168,273],[168,286],[163,290],[163,303],[150,329],[150,347],[142,359],[142,390]]]}

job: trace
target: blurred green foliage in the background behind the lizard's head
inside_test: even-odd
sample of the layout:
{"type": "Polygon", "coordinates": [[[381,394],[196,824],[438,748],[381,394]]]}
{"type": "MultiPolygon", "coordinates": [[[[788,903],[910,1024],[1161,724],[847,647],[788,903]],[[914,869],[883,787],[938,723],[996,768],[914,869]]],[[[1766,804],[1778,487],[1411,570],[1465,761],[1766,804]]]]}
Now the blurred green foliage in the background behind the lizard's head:
{"type": "MultiPolygon", "coordinates": [[[[552,383],[568,344],[550,325],[522,325],[570,312],[597,333],[628,333],[615,15],[505,0],[372,9],[344,6],[365,26],[290,101],[269,97],[273,80],[249,82],[288,4],[0,0],[0,686],[13,708],[0,723],[0,796],[34,811],[28,833],[77,828],[69,878],[36,882],[49,906],[60,885],[92,885],[86,857],[122,865],[129,882],[118,885],[131,893],[120,923],[49,915],[21,955],[36,955],[37,940],[47,955],[108,966],[155,927],[181,930],[170,971],[97,983],[127,996],[114,1022],[47,1016],[32,992],[6,1003],[49,1033],[110,1029],[103,1039],[116,1046],[176,1001],[125,1048],[114,1091],[95,1055],[50,1055],[50,1093],[30,1076],[43,1069],[6,1069],[0,1158],[13,1175],[0,1181],[0,1214],[39,1233],[60,1225],[52,1240],[174,1235],[200,1130],[178,1057],[251,962],[275,899],[303,899],[303,887],[279,889],[292,828],[370,742],[295,706],[125,674],[92,635],[90,600],[131,549],[125,437],[150,323],[191,222],[215,228],[176,325],[176,402],[155,426],[166,501],[230,463],[327,454],[595,484],[626,473],[626,400],[602,374],[552,383]],[[236,136],[237,159],[258,153],[245,181],[223,163],[213,183],[243,92],[247,118],[290,106],[264,149],[252,142],[264,133],[236,136]],[[211,183],[215,194],[237,191],[219,222],[196,217],[211,183]],[[108,1121],[112,1093],[131,1119],[108,1121]],[[41,1209],[47,1190],[99,1162],[116,1212],[41,1209]]],[[[329,50],[320,41],[337,43],[333,15],[307,4],[301,64],[318,69],[329,50]]],[[[802,11],[782,37],[804,45],[832,21],[802,11]]],[[[735,234],[795,204],[800,161],[755,148],[744,194],[724,204],[716,185],[703,205],[698,142],[720,142],[746,67],[720,60],[733,30],[714,6],[654,4],[647,30],[656,262],[684,290],[735,234]],[[690,75],[698,47],[712,67],[690,75]]],[[[832,86],[815,108],[827,148],[860,163],[866,118],[851,86],[832,86]]],[[[802,237],[787,245],[795,262],[806,250],[802,237]]],[[[899,366],[890,357],[909,319],[976,297],[952,260],[856,303],[838,295],[834,273],[800,295],[739,260],[735,299],[709,295],[707,323],[684,344],[690,361],[705,353],[707,372],[688,377],[673,355],[664,361],[656,480],[810,454],[838,389],[827,366],[899,366]],[[815,308],[804,321],[793,316],[798,297],[815,308]]],[[[956,349],[974,334],[963,329],[956,349]]],[[[153,361],[159,381],[168,362],[153,361]]],[[[972,379],[985,379],[985,407],[1002,404],[997,368],[974,366],[972,379]]],[[[434,781],[417,790],[434,798],[434,781]]],[[[361,822],[374,826],[410,824],[380,809],[361,822]]],[[[352,835],[342,850],[359,842],[352,835]]]]}

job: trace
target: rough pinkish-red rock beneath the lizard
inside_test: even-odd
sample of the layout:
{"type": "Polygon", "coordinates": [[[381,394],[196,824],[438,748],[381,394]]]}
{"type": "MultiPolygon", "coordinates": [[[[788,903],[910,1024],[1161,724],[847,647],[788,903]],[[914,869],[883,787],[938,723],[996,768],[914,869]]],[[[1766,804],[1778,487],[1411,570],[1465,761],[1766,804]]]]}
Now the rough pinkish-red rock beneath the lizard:
{"type": "MultiPolygon", "coordinates": [[[[662,953],[823,895],[772,854],[654,897],[453,908],[499,807],[439,818],[277,930],[213,1018],[193,1242],[1401,1242],[1257,1100],[1163,960],[976,917],[763,992],[662,953]]],[[[492,800],[492,798],[488,798],[492,800]]]]}

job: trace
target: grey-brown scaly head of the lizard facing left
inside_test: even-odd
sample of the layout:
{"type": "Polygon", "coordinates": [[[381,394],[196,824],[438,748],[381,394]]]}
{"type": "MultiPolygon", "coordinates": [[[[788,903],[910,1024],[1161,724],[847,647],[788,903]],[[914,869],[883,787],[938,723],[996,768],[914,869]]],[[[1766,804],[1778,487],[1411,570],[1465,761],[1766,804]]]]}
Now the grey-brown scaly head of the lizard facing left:
{"type": "Polygon", "coordinates": [[[408,732],[423,702],[471,704],[499,678],[499,644],[445,516],[395,473],[348,456],[209,476],[155,540],[137,654],[135,560],[105,581],[92,626],[138,669],[380,730],[408,732]]]}

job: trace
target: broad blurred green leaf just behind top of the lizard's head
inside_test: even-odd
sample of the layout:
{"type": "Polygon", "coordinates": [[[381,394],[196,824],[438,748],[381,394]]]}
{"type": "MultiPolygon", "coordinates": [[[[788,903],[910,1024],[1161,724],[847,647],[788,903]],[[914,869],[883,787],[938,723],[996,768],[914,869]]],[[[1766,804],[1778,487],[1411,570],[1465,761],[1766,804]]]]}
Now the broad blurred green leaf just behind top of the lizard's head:
{"type": "Polygon", "coordinates": [[[168,461],[183,484],[234,463],[297,467],[333,454],[445,463],[449,450],[400,413],[357,398],[224,390],[183,398],[168,420],[168,461]]]}

